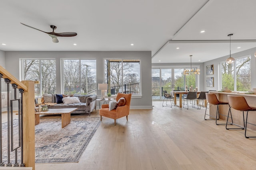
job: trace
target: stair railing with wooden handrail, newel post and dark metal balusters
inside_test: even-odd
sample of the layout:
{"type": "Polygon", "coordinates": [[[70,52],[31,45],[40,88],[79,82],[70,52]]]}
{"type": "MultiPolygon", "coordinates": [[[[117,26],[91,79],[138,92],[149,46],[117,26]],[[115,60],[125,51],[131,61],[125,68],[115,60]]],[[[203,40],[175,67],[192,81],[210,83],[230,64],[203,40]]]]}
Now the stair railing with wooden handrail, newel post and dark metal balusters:
{"type": "MultiPolygon", "coordinates": [[[[7,89],[6,113],[0,100],[0,166],[32,167],[35,169],[34,81],[20,82],[0,66],[0,90],[7,89]],[[2,87],[2,81],[5,87],[2,87]],[[14,93],[10,93],[10,85],[14,93]],[[17,91],[19,92],[17,94],[17,91]],[[12,94],[12,96],[11,96],[12,94]],[[18,128],[14,130],[14,110],[18,111],[18,128]],[[2,128],[2,117],[7,114],[7,135],[2,128]],[[16,133],[14,133],[16,132],[16,133]],[[2,142],[3,135],[7,143],[2,142]],[[17,140],[15,140],[17,139],[17,140]],[[5,149],[7,148],[7,150],[5,149]],[[20,151],[20,152],[18,152],[20,151]],[[7,158],[4,160],[3,158],[7,158]],[[14,160],[14,162],[12,161],[14,160]]],[[[6,130],[5,130],[6,131],[6,130]]]]}

